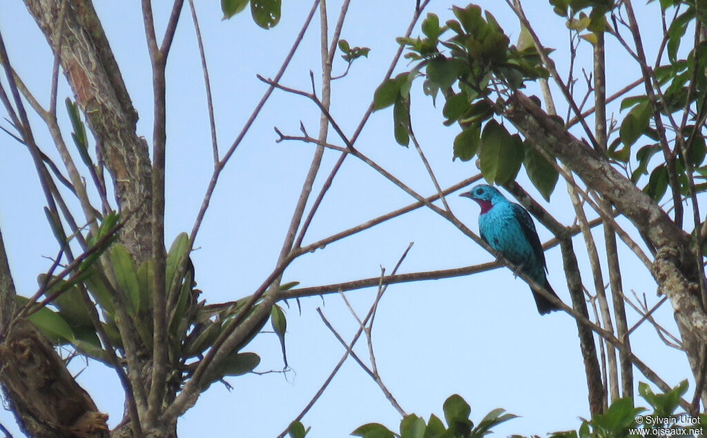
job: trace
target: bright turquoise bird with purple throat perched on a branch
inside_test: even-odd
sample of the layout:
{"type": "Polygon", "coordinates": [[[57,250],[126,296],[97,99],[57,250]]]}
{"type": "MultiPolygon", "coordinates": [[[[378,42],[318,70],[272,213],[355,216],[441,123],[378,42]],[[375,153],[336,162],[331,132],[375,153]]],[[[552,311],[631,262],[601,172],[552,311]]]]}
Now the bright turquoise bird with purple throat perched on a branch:
{"type": "MultiPolygon", "coordinates": [[[[520,272],[557,296],[547,282],[545,254],[532,218],[525,208],[508,201],[500,191],[486,184],[473,187],[460,196],[477,201],[481,207],[479,215],[481,239],[503,254],[510,263],[518,266],[520,272]]],[[[531,291],[540,314],[559,310],[559,307],[546,297],[532,288],[531,291]]]]}

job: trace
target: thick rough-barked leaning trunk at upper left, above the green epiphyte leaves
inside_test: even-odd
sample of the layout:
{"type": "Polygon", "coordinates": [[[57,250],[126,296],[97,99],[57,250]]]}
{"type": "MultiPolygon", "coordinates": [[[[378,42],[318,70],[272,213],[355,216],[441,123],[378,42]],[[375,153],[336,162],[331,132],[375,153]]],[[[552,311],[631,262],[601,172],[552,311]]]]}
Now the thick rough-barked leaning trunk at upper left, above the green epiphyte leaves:
{"type": "MultiPolygon", "coordinates": [[[[53,47],[62,1],[25,0],[25,4],[53,47]]],[[[118,206],[134,211],[121,231],[121,242],[140,263],[151,254],[152,195],[147,142],[136,134],[137,112],[93,4],[67,0],[61,28],[62,69],[110,172],[118,206]]]]}

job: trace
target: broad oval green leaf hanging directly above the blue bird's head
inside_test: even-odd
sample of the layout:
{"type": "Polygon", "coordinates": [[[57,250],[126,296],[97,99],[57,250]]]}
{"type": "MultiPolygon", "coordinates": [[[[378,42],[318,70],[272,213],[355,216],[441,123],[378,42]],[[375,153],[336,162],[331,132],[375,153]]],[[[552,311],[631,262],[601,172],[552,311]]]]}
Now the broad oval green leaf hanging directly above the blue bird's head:
{"type": "Polygon", "coordinates": [[[511,136],[503,125],[489,120],[481,133],[479,164],[481,173],[490,184],[503,185],[515,178],[523,160],[520,136],[511,136]]]}

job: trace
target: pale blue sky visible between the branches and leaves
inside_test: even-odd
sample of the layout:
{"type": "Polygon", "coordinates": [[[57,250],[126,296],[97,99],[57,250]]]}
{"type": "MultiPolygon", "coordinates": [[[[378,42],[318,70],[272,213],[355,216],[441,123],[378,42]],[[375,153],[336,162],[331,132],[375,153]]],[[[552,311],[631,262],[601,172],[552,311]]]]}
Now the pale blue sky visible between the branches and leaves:
{"type": "MultiPolygon", "coordinates": [[[[167,2],[155,2],[158,32],[168,14],[167,2]],[[159,3],[159,4],[158,4],[159,3]]],[[[556,47],[554,59],[566,72],[568,36],[563,20],[551,12],[547,2],[527,1],[527,13],[546,45],[556,47]]],[[[338,11],[339,1],[329,4],[338,11]]],[[[342,37],[351,45],[371,47],[368,59],[356,61],[349,76],[332,85],[332,114],[346,134],[351,134],[365,112],[373,90],[382,80],[392,54],[395,37],[409,23],[414,1],[354,1],[342,37]]],[[[451,18],[450,1],[434,1],[428,11],[441,20],[451,18]]],[[[464,5],[462,5],[464,6],[464,5]]],[[[508,32],[518,36],[518,23],[502,1],[484,1],[508,32]]],[[[127,88],[140,114],[139,132],[151,138],[151,73],[145,49],[141,13],[135,2],[95,1],[111,42],[127,88]]],[[[281,23],[272,30],[261,30],[245,13],[232,20],[221,20],[218,1],[197,4],[199,20],[209,61],[218,141],[222,153],[240,131],[252,107],[265,90],[255,78],[274,76],[291,40],[298,32],[308,2],[285,1],[281,23]]],[[[643,8],[643,6],[641,6],[643,8]]],[[[657,20],[657,2],[649,6],[646,17],[657,20]]],[[[316,21],[316,20],[315,20],[316,21]]],[[[330,18],[333,28],[335,18],[330,18]]],[[[44,37],[37,30],[21,1],[0,3],[0,28],[13,66],[31,90],[47,102],[51,58],[44,37]]],[[[654,25],[646,29],[656,28],[654,25]]],[[[416,29],[419,29],[416,28],[416,29]]],[[[309,74],[320,71],[319,25],[312,23],[302,47],[282,82],[308,88],[309,74]]],[[[419,30],[414,35],[419,34],[419,30]]],[[[657,32],[644,32],[646,38],[657,32]]],[[[590,67],[588,47],[580,50],[579,66],[590,67]]],[[[626,55],[609,52],[609,93],[638,77],[638,70],[626,64],[626,55]]],[[[398,71],[407,66],[399,64],[398,71]]],[[[344,71],[337,55],[334,72],[344,71]]],[[[581,75],[580,70],[577,71],[581,75]]],[[[440,108],[433,108],[422,95],[419,83],[413,85],[413,125],[440,184],[448,187],[477,172],[473,162],[452,162],[452,141],[457,127],[442,126],[440,108]]],[[[583,90],[580,84],[578,88],[583,90]]],[[[532,93],[537,91],[531,90],[532,93]]],[[[578,92],[578,99],[583,91],[578,92]]],[[[61,81],[59,100],[71,96],[61,81]]],[[[556,93],[559,101],[559,93],[556,93]]],[[[438,102],[440,105],[440,102],[438,102]]],[[[618,107],[615,107],[618,112],[618,107]]],[[[64,126],[66,123],[64,112],[64,126]]],[[[196,280],[207,302],[214,303],[249,295],[271,271],[279,254],[301,182],[308,169],[312,146],[302,143],[275,143],[273,126],[285,134],[297,135],[300,120],[310,133],[316,133],[319,116],[303,97],[275,93],[257,119],[245,141],[221,176],[211,200],[204,225],[192,254],[196,280]]],[[[4,124],[3,126],[7,126],[4,124]]],[[[52,143],[34,122],[38,142],[49,155],[52,143]]],[[[578,133],[580,135],[580,133],[578,133]]],[[[329,141],[340,144],[333,134],[329,141]]],[[[392,136],[390,109],[376,112],[357,143],[366,155],[422,194],[434,188],[414,149],[398,146],[392,136]]],[[[46,271],[57,245],[45,223],[45,201],[36,182],[28,153],[8,136],[0,136],[0,229],[3,232],[11,269],[18,292],[31,295],[35,278],[46,271]]],[[[327,151],[322,177],[337,160],[338,153],[327,151]]],[[[178,232],[192,227],[201,196],[211,174],[211,146],[206,117],[204,85],[197,46],[188,10],[180,21],[168,63],[168,170],[167,225],[168,244],[178,232]]],[[[525,174],[520,182],[537,194],[525,174]]],[[[562,184],[546,207],[569,224],[573,212],[562,184]]],[[[542,201],[540,196],[537,199],[542,201]]],[[[407,205],[412,199],[355,158],[347,158],[332,189],[316,216],[305,243],[356,225],[387,211],[407,205]]],[[[472,230],[477,230],[478,208],[468,199],[449,197],[452,210],[472,230]]],[[[543,201],[544,202],[544,201],[543,201]]],[[[541,239],[550,237],[539,227],[541,239]]],[[[603,239],[599,239],[602,241],[603,239]]],[[[302,285],[321,285],[390,272],[409,242],[415,242],[401,272],[428,271],[467,266],[489,261],[491,256],[435,213],[419,210],[402,218],[355,235],[296,261],[284,281],[298,280],[302,285]]],[[[590,285],[590,272],[583,241],[575,240],[583,278],[590,285]]],[[[620,254],[631,259],[621,244],[620,254]]],[[[561,299],[569,302],[561,270],[559,249],[547,252],[549,281],[561,299]]],[[[657,301],[655,284],[645,268],[634,261],[626,264],[624,289],[645,293],[649,303],[657,301]]],[[[359,314],[365,314],[375,290],[350,292],[347,297],[359,314]]],[[[229,378],[233,391],[214,384],[197,406],[180,420],[182,437],[273,437],[283,430],[317,391],[338,362],[343,350],[322,324],[315,309],[322,307],[346,340],[357,327],[341,297],[302,300],[302,314],[291,302],[286,309],[286,337],[291,372],[250,374],[229,378]]],[[[658,312],[674,333],[672,312],[667,306],[658,312]]],[[[629,324],[637,320],[629,310],[629,324]]],[[[269,325],[267,326],[269,329],[269,325]]],[[[460,393],[472,406],[472,418],[481,419],[493,408],[506,408],[521,418],[498,427],[499,436],[541,434],[578,426],[579,416],[588,416],[587,390],[576,325],[566,314],[537,314],[530,290],[506,269],[477,276],[436,280],[407,285],[392,285],[382,298],[373,331],[374,348],[382,379],[408,413],[428,418],[442,417],[442,403],[452,393],[460,393]]],[[[361,341],[359,341],[361,342],[361,341]]],[[[689,375],[685,356],[665,347],[650,326],[644,324],[632,338],[633,348],[669,384],[689,375]]],[[[276,336],[262,334],[246,350],[262,357],[259,371],[281,369],[280,346],[276,336]]],[[[365,345],[357,352],[368,357],[365,345]]],[[[98,407],[110,413],[109,424],[122,416],[122,391],[115,374],[90,362],[88,367],[75,360],[72,369],[81,371],[78,380],[91,393],[98,407]]],[[[636,372],[636,383],[645,381],[636,372]]],[[[0,412],[0,422],[15,432],[8,412],[0,412]]],[[[325,391],[324,396],[305,416],[312,426],[310,437],[344,437],[366,422],[382,422],[397,430],[399,417],[375,383],[349,360],[325,391]]]]}

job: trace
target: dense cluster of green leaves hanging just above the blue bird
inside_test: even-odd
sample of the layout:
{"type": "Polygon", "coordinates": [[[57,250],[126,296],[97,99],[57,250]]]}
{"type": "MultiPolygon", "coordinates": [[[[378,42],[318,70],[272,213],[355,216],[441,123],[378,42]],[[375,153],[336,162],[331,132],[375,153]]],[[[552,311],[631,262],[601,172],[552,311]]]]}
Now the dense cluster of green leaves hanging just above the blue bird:
{"type": "Polygon", "coordinates": [[[409,50],[405,56],[416,64],[378,87],[373,109],[394,105],[395,139],[407,146],[411,83],[424,77],[423,92],[433,103],[443,95],[444,124],[462,128],[454,141],[453,159],[467,161],[478,156],[484,178],[496,184],[515,179],[525,165],[533,184],[549,199],[558,180],[554,165],[538,152],[537,145],[510,134],[493,119],[503,111],[504,102],[500,97],[495,102],[489,97],[494,92],[522,88],[526,81],[547,78],[537,49],[511,45],[496,18],[488,11],[482,13],[475,4],[455,6],[452,11],[456,19],[444,25],[429,13],[421,25],[423,37],[398,39],[409,50]],[[448,34],[450,37],[443,39],[448,34]]]}

